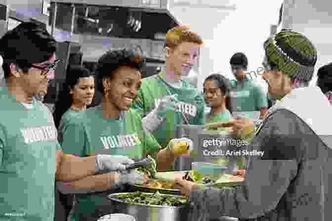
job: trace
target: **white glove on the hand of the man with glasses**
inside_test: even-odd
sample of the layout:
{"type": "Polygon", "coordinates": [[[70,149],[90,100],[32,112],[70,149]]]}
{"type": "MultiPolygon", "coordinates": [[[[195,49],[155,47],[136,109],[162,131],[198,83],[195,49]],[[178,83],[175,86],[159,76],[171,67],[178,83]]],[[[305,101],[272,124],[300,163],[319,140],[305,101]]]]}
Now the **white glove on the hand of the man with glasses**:
{"type": "Polygon", "coordinates": [[[134,163],[132,159],[123,155],[96,155],[96,173],[125,170],[125,165],[134,163]]]}

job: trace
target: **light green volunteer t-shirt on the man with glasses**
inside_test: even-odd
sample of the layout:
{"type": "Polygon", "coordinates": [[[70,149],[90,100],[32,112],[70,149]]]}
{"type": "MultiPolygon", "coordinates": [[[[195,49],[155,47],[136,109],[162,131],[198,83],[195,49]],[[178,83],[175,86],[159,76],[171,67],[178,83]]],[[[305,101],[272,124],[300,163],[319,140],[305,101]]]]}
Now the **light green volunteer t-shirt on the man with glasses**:
{"type": "Polygon", "coordinates": [[[0,106],[0,221],[53,221],[55,152],[61,150],[53,117],[41,102],[0,106]]]}

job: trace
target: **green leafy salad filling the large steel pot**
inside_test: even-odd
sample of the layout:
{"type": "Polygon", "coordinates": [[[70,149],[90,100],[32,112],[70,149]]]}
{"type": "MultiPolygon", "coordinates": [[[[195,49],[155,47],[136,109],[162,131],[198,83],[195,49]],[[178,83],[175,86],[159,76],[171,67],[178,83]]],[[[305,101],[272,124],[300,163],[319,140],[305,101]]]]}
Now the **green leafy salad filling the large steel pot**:
{"type": "Polygon", "coordinates": [[[183,196],[160,194],[159,191],[149,194],[141,191],[119,194],[119,198],[129,204],[143,204],[156,206],[184,206],[189,204],[189,199],[183,196]]]}

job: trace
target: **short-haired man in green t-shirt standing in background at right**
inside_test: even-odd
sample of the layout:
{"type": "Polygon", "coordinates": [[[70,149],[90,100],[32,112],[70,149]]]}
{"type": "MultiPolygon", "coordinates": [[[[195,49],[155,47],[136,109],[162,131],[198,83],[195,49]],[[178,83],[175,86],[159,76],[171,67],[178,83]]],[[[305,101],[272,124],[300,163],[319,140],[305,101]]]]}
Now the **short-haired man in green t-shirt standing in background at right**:
{"type": "Polygon", "coordinates": [[[256,117],[253,117],[252,113],[258,111],[260,115],[257,118],[263,119],[268,108],[267,95],[246,76],[247,56],[242,52],[235,53],[230,60],[230,65],[236,78],[230,81],[230,111],[235,117],[240,115],[255,118],[255,120],[256,117]]]}

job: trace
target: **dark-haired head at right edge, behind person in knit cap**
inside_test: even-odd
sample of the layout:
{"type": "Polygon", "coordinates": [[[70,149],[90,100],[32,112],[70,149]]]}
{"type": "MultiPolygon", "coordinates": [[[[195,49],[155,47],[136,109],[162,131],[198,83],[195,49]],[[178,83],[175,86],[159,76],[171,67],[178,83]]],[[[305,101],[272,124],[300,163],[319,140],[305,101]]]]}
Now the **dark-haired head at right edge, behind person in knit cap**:
{"type": "Polygon", "coordinates": [[[317,86],[321,88],[322,92],[332,104],[332,63],[318,69],[317,76],[317,86]]]}

